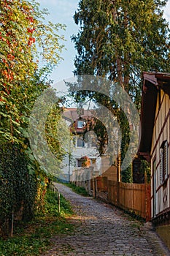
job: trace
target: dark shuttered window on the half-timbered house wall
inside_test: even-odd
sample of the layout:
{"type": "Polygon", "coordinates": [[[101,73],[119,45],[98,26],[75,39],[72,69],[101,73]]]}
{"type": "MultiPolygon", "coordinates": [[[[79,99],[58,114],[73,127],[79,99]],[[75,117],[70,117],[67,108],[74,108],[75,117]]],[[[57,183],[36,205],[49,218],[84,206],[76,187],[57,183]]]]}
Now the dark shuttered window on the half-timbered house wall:
{"type": "Polygon", "coordinates": [[[168,178],[169,170],[169,154],[168,154],[168,141],[163,141],[161,145],[161,184],[168,178]]]}

